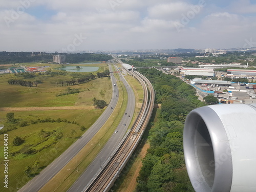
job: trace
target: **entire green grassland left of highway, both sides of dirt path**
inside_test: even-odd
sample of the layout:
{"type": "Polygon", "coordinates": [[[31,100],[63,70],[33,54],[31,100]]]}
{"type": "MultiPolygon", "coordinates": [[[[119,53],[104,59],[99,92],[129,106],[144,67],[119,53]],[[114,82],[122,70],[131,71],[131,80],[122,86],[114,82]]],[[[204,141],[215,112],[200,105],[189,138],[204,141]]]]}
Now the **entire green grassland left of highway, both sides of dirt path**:
{"type": "MultiPolygon", "coordinates": [[[[26,65],[39,66],[38,63],[27,63],[26,65]]],[[[107,67],[103,63],[93,66],[99,67],[97,72],[103,72],[107,67]]],[[[51,70],[57,71],[53,68],[51,70]]],[[[97,72],[93,72],[93,74],[97,72]]],[[[110,102],[112,85],[111,80],[107,77],[96,77],[89,82],[76,84],[75,86],[60,87],[52,83],[58,79],[71,79],[73,78],[72,74],[74,73],[68,72],[65,76],[36,74],[35,77],[29,79],[16,77],[14,74],[0,75],[0,108],[2,108],[2,111],[0,110],[0,124],[5,125],[1,131],[16,128],[6,133],[8,134],[9,180],[8,189],[1,184],[0,191],[16,191],[16,187],[22,187],[88,130],[104,111],[94,109],[93,97],[103,99],[106,103],[110,102]],[[7,81],[9,79],[23,79],[27,81],[40,79],[43,83],[39,83],[37,87],[29,88],[8,84],[7,81]],[[68,87],[80,89],[80,93],[55,96],[58,93],[66,92],[68,87]],[[42,106],[84,106],[85,109],[46,111],[40,110],[42,106]],[[8,111],[3,111],[3,108],[24,107],[37,107],[38,110],[11,111],[11,109],[8,109],[8,111]],[[7,122],[6,114],[10,112],[14,113],[16,123],[7,122]],[[44,122],[49,121],[49,119],[51,122],[44,122]],[[23,121],[27,121],[28,125],[20,126],[20,122],[23,121]],[[86,127],[86,130],[81,131],[81,126],[86,127]],[[22,137],[25,142],[19,146],[14,146],[12,142],[16,136],[22,137]],[[37,160],[39,160],[39,165],[34,166],[37,160]],[[32,169],[30,177],[24,173],[26,166],[30,166],[32,169]]],[[[4,136],[4,134],[0,135],[0,178],[5,178],[3,161],[4,136]]]]}

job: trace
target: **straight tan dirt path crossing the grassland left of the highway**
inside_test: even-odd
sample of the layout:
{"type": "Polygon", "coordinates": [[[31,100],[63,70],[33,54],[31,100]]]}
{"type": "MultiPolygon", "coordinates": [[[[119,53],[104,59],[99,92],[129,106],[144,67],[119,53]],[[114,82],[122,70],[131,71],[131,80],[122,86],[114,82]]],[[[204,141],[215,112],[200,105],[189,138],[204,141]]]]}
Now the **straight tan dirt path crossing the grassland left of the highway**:
{"type": "Polygon", "coordinates": [[[0,111],[38,111],[38,110],[84,110],[94,106],[42,106],[33,108],[0,108],[0,111]]]}

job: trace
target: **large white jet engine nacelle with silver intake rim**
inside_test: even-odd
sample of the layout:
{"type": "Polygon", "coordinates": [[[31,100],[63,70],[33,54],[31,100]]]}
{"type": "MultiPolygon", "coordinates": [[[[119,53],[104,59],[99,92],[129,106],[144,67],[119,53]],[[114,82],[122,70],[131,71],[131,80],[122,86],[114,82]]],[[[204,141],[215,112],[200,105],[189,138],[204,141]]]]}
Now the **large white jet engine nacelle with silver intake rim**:
{"type": "Polygon", "coordinates": [[[191,111],[183,143],[188,176],[197,192],[256,191],[256,104],[191,111]]]}

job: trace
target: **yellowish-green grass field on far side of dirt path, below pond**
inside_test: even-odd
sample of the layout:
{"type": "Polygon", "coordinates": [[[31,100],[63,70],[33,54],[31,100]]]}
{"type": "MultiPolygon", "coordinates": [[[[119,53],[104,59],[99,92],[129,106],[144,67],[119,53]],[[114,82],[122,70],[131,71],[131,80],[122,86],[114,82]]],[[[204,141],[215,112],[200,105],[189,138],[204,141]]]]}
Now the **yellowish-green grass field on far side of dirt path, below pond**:
{"type": "MultiPolygon", "coordinates": [[[[30,66],[33,66],[30,64],[30,66]]],[[[38,65],[34,65],[38,66],[38,65]]],[[[99,64],[98,72],[102,72],[106,65],[99,64]]],[[[55,66],[56,67],[56,66],[55,66]]],[[[96,74],[97,72],[93,72],[96,74]]],[[[100,95],[109,92],[111,88],[110,81],[95,78],[88,83],[77,84],[75,86],[60,87],[54,83],[58,79],[67,80],[73,78],[73,72],[67,72],[65,76],[50,76],[50,75],[36,75],[34,78],[24,79],[23,77],[16,77],[14,74],[0,74],[0,108],[1,107],[30,107],[30,106],[73,106],[73,105],[92,105],[92,98],[103,99],[107,102],[110,100],[108,94],[100,95]],[[9,79],[24,79],[27,81],[41,80],[37,87],[22,87],[19,85],[8,84],[9,79]],[[60,97],[55,97],[56,94],[66,92],[66,89],[80,89],[79,94],[71,94],[60,97]]],[[[87,73],[83,73],[87,74],[87,73]]],[[[103,78],[106,79],[106,78],[103,78]]]]}

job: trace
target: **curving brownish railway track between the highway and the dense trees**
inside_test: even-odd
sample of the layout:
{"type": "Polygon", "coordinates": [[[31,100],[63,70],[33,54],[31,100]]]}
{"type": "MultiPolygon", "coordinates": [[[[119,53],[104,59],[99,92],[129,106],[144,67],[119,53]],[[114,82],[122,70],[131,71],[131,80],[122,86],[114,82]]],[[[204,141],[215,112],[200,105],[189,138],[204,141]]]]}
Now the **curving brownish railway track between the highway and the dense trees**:
{"type": "Polygon", "coordinates": [[[130,72],[142,84],[144,99],[141,111],[132,126],[129,133],[117,147],[111,158],[105,163],[100,172],[91,180],[91,182],[82,190],[85,191],[108,191],[114,184],[119,173],[130,159],[136,146],[141,139],[148,121],[150,120],[153,108],[155,93],[152,84],[148,79],[138,72],[130,72]]]}

